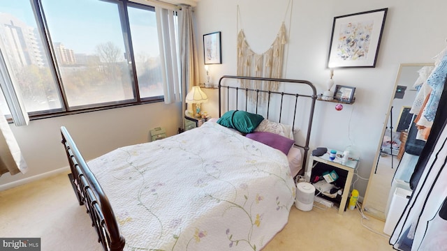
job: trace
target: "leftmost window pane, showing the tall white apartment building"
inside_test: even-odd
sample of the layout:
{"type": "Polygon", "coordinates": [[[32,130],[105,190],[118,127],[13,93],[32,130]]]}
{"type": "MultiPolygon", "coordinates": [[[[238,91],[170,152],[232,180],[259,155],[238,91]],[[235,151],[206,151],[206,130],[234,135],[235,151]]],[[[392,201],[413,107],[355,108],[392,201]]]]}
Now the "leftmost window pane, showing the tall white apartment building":
{"type": "Polygon", "coordinates": [[[29,1],[0,3],[0,37],[0,50],[11,81],[22,95],[27,111],[60,110],[57,84],[29,1]]]}

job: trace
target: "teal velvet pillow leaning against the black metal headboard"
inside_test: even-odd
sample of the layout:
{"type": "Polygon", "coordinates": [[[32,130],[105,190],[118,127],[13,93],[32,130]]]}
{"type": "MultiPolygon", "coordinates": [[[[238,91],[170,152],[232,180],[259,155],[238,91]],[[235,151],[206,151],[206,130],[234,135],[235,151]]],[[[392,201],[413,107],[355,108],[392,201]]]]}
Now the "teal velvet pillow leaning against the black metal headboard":
{"type": "Polygon", "coordinates": [[[217,121],[219,125],[236,129],[242,133],[251,133],[264,120],[259,114],[231,110],[223,114],[217,121]]]}

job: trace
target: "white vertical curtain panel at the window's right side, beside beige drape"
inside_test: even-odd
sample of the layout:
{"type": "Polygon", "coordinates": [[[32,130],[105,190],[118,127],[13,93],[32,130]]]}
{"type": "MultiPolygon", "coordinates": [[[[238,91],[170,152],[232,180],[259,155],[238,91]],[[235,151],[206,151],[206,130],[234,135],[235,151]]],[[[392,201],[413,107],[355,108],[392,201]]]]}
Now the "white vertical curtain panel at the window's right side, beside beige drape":
{"type": "Polygon", "coordinates": [[[155,7],[159,33],[161,72],[165,103],[180,102],[179,56],[177,47],[177,22],[174,11],[155,7]]]}

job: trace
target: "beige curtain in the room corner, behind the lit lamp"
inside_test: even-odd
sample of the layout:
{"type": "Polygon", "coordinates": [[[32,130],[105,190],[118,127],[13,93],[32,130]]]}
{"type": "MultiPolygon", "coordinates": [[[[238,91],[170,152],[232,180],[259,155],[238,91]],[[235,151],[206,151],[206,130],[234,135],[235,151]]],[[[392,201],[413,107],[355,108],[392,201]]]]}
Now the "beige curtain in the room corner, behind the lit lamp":
{"type": "MultiPolygon", "coordinates": [[[[179,11],[179,47],[182,82],[182,120],[186,110],[184,102],[191,86],[198,85],[198,52],[194,35],[193,10],[191,6],[182,6],[179,11]]],[[[184,121],[184,120],[183,120],[184,121]]]]}

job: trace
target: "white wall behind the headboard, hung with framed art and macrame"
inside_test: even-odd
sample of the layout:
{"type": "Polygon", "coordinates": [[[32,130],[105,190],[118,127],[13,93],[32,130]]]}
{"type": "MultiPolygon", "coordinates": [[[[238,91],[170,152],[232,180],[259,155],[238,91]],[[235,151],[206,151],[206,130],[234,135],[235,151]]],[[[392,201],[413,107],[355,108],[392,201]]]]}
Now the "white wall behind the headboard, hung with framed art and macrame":
{"type": "MultiPolygon", "coordinates": [[[[353,144],[361,152],[358,174],[369,177],[400,63],[430,63],[446,47],[444,10],[447,1],[354,1],[295,0],[286,15],[288,0],[200,0],[195,8],[199,59],[203,65],[203,34],[221,31],[221,65],[211,65],[210,75],[217,82],[221,75],[236,74],[237,27],[242,27],[255,52],[265,51],[279,31],[282,21],[290,33],[286,45],[285,78],[307,79],[318,93],[325,89],[329,70],[325,68],[333,18],[367,10],[388,8],[379,56],[375,68],[335,70],[336,84],[356,87],[356,102],[344,105],[317,101],[311,148],[326,146],[344,150],[353,144]],[[237,6],[240,22],[237,23],[237,6]],[[290,12],[289,12],[290,13],[290,12]],[[241,25],[242,24],[242,25],[241,25]]],[[[205,70],[201,78],[205,82],[205,70]]],[[[212,90],[207,90],[212,91],[212,90]]],[[[217,107],[217,99],[204,105],[217,107]]],[[[217,109],[216,109],[217,112],[217,109]]],[[[365,194],[367,181],[359,180],[356,189],[365,194]]]]}

